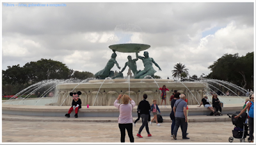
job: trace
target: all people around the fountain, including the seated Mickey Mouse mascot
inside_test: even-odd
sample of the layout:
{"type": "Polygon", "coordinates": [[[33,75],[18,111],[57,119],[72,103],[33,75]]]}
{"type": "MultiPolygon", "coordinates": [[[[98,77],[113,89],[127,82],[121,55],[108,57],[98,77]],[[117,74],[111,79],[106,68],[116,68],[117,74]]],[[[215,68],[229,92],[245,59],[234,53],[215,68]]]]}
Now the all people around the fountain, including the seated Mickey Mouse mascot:
{"type": "MultiPolygon", "coordinates": [[[[163,86],[161,88],[161,105],[166,101],[166,92],[169,89],[166,88],[166,86],[163,86]]],[[[70,107],[68,114],[65,114],[67,118],[70,117],[70,112],[73,110],[76,111],[75,117],[77,118],[77,112],[79,109],[81,109],[81,100],[78,98],[79,95],[81,95],[81,92],[78,91],[77,93],[70,93],[70,96],[73,96],[73,102],[72,107],[70,107]]],[[[136,126],[136,123],[140,118],[142,119],[142,125],[140,126],[140,129],[138,131],[138,134],[136,135],[139,138],[142,138],[141,132],[143,128],[146,128],[147,131],[147,137],[151,137],[152,135],[149,132],[148,124],[152,125],[152,122],[156,120],[156,125],[160,126],[160,124],[157,122],[157,111],[159,114],[161,114],[161,111],[157,105],[157,100],[152,100],[152,105],[147,101],[147,94],[143,95],[143,100],[138,104],[137,113],[138,113],[138,119],[136,119],[133,123],[132,121],[132,109],[135,107],[136,103],[134,100],[131,99],[128,95],[118,95],[118,98],[116,98],[114,102],[114,106],[119,109],[120,115],[118,117],[118,127],[120,128],[120,141],[125,142],[125,130],[127,130],[127,133],[129,135],[130,142],[134,142],[134,137],[132,134],[132,124],[136,126]],[[118,103],[118,100],[122,100],[122,103],[118,103]],[[130,103],[129,103],[130,102],[130,103]],[[150,112],[153,114],[153,118],[150,120],[150,112]]],[[[172,119],[172,125],[171,125],[171,136],[173,139],[177,139],[177,131],[179,127],[182,131],[182,139],[189,139],[187,137],[188,135],[188,99],[186,98],[185,94],[180,94],[176,90],[173,91],[173,95],[170,97],[171,107],[172,111],[170,113],[170,119],[172,119]]],[[[249,134],[249,142],[253,142],[253,118],[254,118],[254,95],[252,94],[250,96],[250,100],[246,99],[246,102],[244,104],[243,110],[235,116],[235,118],[239,118],[243,112],[246,112],[248,114],[248,119],[246,123],[248,123],[250,134],[249,134]]],[[[198,107],[201,105],[204,105],[205,108],[209,109],[211,111],[210,115],[222,115],[221,114],[221,105],[220,100],[218,99],[217,94],[212,95],[212,105],[209,102],[208,96],[204,95],[204,98],[202,98],[202,102],[198,107]]],[[[165,105],[166,106],[166,105],[165,105]]]]}

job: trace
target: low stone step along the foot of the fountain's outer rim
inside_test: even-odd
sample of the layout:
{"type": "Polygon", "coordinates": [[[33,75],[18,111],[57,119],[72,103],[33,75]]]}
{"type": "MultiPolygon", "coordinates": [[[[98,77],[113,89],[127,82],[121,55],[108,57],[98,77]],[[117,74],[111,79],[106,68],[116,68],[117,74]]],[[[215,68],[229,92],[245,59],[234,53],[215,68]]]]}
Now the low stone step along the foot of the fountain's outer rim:
{"type": "MultiPolygon", "coordinates": [[[[152,118],[152,116],[151,116],[152,118]]],[[[56,116],[19,116],[19,115],[10,115],[2,114],[2,120],[4,121],[65,121],[65,122],[116,122],[117,117],[79,117],[66,118],[63,114],[63,117],[56,116]]],[[[133,121],[137,118],[133,117],[133,121]]],[[[169,116],[163,116],[164,123],[172,123],[172,120],[169,116]]],[[[223,116],[188,116],[189,122],[216,122],[216,121],[231,121],[231,118],[227,114],[223,116]]],[[[141,122],[141,119],[140,121],[141,122]]]]}

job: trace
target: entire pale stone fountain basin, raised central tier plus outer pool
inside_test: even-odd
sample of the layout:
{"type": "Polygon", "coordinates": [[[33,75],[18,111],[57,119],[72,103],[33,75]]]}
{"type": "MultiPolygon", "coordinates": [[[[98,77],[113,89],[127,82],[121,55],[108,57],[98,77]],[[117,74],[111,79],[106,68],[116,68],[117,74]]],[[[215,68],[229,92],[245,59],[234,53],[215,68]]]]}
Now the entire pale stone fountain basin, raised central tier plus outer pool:
{"type": "MultiPolygon", "coordinates": [[[[207,83],[175,82],[169,79],[130,79],[129,82],[127,82],[127,79],[115,79],[105,80],[104,83],[103,81],[90,80],[88,83],[81,83],[78,86],[78,83],[59,84],[56,86],[56,92],[54,93],[56,96],[54,97],[28,98],[22,101],[20,101],[21,99],[3,100],[2,112],[3,114],[28,116],[64,116],[72,102],[72,96],[69,96],[69,93],[75,88],[74,92],[82,92],[79,96],[82,100],[82,109],[79,109],[79,116],[118,117],[119,110],[113,106],[113,102],[115,102],[119,94],[130,95],[136,105],[143,100],[143,94],[147,94],[148,102],[152,103],[153,99],[157,99],[157,104],[159,105],[161,98],[158,88],[163,85],[170,91],[166,92],[167,108],[161,108],[162,116],[170,115],[171,106],[169,100],[174,90],[185,93],[188,97],[189,115],[207,115],[211,112],[203,106],[198,107],[207,83]],[[95,106],[92,106],[93,103],[95,103],[95,106]],[[90,107],[87,109],[86,105],[90,105],[90,107]]],[[[224,103],[223,114],[234,114],[241,111],[245,98],[247,97],[219,96],[220,101],[224,103]]],[[[209,96],[209,100],[211,101],[211,96],[209,96]]],[[[122,100],[120,101],[119,103],[122,103],[122,100]]],[[[71,115],[74,115],[74,112],[71,115]]],[[[132,116],[137,116],[137,106],[132,110],[132,116]]]]}

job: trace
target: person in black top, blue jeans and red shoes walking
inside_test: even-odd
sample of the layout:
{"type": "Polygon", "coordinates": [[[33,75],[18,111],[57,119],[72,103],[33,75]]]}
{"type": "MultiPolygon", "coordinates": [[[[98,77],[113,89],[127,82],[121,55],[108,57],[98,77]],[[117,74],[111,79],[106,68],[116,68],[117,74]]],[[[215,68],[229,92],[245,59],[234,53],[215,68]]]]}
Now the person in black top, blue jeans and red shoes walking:
{"type": "Polygon", "coordinates": [[[149,115],[149,111],[150,111],[150,104],[148,103],[148,101],[146,100],[148,98],[147,94],[143,95],[143,100],[139,103],[139,110],[140,110],[140,117],[142,119],[142,125],[140,126],[140,130],[137,134],[137,137],[142,137],[140,135],[141,131],[143,130],[144,126],[146,126],[146,130],[148,133],[148,137],[151,137],[152,135],[149,133],[148,130],[148,115],[149,115]]]}

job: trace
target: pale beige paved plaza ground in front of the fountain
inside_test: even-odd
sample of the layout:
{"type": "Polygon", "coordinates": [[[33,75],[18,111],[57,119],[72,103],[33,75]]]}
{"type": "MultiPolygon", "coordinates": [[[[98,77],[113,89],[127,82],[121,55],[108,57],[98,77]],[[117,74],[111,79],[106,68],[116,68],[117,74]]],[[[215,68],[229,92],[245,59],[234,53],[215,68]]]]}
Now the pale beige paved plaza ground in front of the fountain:
{"type": "MultiPolygon", "coordinates": [[[[33,118],[33,116],[31,116],[33,118]]],[[[116,118],[117,119],[117,118],[116,118]]],[[[184,140],[179,129],[177,140],[170,135],[171,123],[149,125],[152,137],[136,137],[141,121],[133,127],[134,142],[228,142],[232,136],[231,121],[191,122],[188,137],[184,140]]],[[[2,121],[2,142],[120,142],[120,130],[116,122],[75,122],[75,121],[2,121]]],[[[247,139],[246,139],[247,140],[247,139]]],[[[125,142],[129,142],[126,134],[125,142]]],[[[234,142],[239,142],[235,139],[234,142]]]]}

